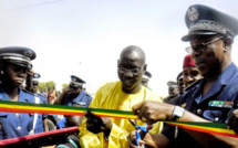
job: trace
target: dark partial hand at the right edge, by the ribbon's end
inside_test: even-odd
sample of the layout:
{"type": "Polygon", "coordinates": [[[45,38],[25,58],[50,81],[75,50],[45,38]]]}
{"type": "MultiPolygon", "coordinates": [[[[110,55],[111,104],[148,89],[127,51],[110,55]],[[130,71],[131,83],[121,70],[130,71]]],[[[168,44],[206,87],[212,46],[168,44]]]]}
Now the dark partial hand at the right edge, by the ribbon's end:
{"type": "Polygon", "coordinates": [[[228,118],[228,126],[230,129],[234,129],[238,134],[238,109],[232,110],[228,118]]]}

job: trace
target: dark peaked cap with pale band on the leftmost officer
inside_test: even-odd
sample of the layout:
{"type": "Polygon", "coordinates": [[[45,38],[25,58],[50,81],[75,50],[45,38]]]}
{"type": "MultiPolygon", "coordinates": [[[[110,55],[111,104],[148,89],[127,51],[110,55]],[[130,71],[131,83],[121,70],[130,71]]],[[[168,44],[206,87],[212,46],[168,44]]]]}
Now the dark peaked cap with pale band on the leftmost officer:
{"type": "Polygon", "coordinates": [[[0,61],[7,61],[20,66],[32,68],[31,61],[37,56],[35,52],[24,46],[7,46],[0,49],[0,61]]]}

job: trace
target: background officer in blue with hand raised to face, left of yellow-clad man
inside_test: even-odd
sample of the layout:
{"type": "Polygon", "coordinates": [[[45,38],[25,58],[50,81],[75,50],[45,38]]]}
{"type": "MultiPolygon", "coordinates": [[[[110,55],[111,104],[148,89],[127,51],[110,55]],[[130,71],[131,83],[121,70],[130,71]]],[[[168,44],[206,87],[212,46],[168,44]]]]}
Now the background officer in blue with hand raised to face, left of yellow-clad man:
{"type": "MultiPolygon", "coordinates": [[[[54,105],[87,107],[92,101],[92,96],[83,91],[84,83],[82,78],[71,75],[69,86],[66,86],[62,94],[54,101],[54,105]]],[[[65,117],[58,121],[56,127],[59,129],[65,127],[65,117]]]]}

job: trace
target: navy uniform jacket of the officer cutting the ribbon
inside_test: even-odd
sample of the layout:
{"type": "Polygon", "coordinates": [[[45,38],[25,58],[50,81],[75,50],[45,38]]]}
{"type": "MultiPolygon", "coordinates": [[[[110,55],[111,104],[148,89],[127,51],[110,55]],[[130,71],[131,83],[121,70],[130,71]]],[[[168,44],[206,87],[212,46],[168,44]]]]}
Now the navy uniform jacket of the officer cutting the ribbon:
{"type": "MultiPolygon", "coordinates": [[[[205,80],[200,80],[198,85],[195,85],[188,89],[184,96],[180,106],[186,110],[203,117],[214,123],[227,123],[229,114],[238,108],[238,68],[231,63],[223,74],[214,83],[209,92],[201,97],[203,84],[205,80]],[[210,106],[210,102],[232,102],[235,106],[232,108],[228,106],[210,106]]],[[[178,128],[177,135],[175,134],[175,127],[167,125],[163,130],[174,147],[203,147],[198,141],[194,140],[187,133],[178,128]]],[[[172,146],[172,147],[173,147],[172,146]]]]}

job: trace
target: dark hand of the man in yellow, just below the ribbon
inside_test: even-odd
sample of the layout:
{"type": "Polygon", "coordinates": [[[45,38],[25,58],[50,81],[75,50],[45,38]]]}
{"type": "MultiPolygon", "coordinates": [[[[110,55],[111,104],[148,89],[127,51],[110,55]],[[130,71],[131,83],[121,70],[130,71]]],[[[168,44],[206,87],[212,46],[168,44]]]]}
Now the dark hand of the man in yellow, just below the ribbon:
{"type": "Polygon", "coordinates": [[[85,113],[86,120],[86,129],[90,130],[93,134],[99,134],[101,131],[106,133],[108,135],[108,131],[112,129],[112,120],[107,117],[99,117],[91,112],[85,113]]]}

